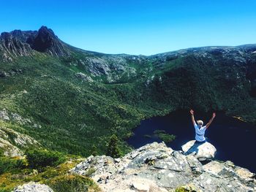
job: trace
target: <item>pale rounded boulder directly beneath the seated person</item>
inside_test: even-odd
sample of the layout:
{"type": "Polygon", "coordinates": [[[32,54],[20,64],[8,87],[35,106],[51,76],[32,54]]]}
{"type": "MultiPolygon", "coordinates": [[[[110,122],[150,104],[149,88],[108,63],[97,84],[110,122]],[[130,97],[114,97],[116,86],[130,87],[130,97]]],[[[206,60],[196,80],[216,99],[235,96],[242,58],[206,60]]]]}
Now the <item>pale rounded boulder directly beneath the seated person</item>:
{"type": "Polygon", "coordinates": [[[192,154],[199,161],[213,159],[217,150],[209,142],[197,143],[195,140],[187,142],[181,146],[186,155],[192,154]]]}

